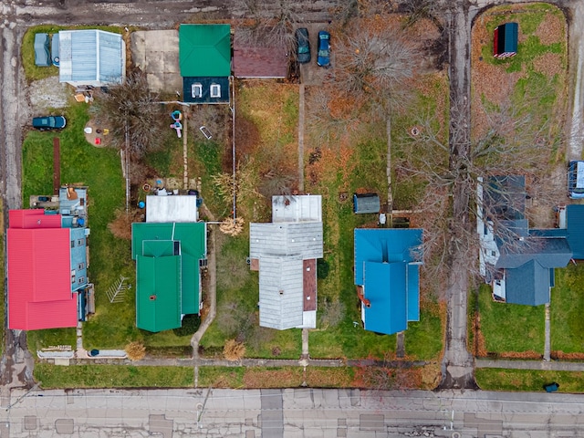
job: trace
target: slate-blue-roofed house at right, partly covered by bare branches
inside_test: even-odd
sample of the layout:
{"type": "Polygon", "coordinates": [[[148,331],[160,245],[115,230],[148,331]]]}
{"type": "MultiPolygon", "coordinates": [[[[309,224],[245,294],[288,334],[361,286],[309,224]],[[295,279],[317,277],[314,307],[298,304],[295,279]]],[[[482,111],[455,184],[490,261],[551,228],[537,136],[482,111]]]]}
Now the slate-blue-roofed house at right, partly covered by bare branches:
{"type": "Polygon", "coordinates": [[[555,269],[567,266],[573,256],[566,235],[529,229],[523,176],[495,176],[487,183],[479,180],[477,187],[479,263],[495,299],[549,303],[555,269]]]}

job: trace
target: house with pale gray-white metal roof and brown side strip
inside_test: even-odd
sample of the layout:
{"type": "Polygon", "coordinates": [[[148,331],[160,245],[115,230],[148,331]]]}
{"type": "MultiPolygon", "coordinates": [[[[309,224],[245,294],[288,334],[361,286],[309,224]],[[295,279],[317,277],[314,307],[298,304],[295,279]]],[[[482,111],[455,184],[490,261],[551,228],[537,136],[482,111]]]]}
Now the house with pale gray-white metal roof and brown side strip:
{"type": "Polygon", "coordinates": [[[250,266],[259,271],[261,327],[317,326],[321,202],[319,195],[274,196],[273,222],[250,224],[250,266]]]}

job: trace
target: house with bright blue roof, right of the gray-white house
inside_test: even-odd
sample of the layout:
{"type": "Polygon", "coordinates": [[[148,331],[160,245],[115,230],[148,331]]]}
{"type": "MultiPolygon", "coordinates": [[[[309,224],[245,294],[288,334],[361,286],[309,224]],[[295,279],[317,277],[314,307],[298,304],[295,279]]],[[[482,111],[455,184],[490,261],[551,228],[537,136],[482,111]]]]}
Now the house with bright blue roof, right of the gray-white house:
{"type": "Polygon", "coordinates": [[[391,335],[420,320],[422,230],[359,228],[354,239],[364,328],[391,335]]]}

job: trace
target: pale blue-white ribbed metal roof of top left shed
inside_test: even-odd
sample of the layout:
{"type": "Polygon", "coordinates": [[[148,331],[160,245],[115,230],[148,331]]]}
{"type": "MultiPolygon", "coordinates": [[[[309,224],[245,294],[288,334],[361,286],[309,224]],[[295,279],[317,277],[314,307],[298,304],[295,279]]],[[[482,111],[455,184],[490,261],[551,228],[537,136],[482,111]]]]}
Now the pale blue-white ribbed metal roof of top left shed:
{"type": "Polygon", "coordinates": [[[125,77],[126,45],[120,34],[83,29],[58,35],[59,82],[99,87],[125,77]]]}

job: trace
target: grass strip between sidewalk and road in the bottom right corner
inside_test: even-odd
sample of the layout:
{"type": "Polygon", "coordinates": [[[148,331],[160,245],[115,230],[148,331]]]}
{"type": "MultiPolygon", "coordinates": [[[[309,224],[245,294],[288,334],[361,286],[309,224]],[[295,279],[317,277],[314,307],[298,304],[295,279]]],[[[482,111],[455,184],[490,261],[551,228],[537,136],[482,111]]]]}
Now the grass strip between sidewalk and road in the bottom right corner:
{"type": "Polygon", "coordinates": [[[559,383],[559,392],[584,392],[584,372],[542,370],[474,370],[478,386],[485,391],[544,391],[552,381],[559,383]]]}

